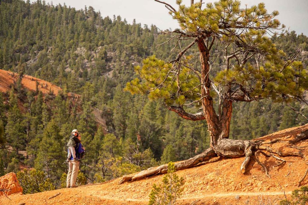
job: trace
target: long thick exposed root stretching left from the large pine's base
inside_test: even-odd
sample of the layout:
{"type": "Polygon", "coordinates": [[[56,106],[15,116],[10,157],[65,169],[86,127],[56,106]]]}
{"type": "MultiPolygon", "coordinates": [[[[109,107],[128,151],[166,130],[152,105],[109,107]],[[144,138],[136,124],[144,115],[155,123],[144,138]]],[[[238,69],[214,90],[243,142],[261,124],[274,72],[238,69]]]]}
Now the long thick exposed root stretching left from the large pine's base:
{"type": "MultiPolygon", "coordinates": [[[[190,167],[194,167],[199,165],[200,163],[209,161],[212,157],[217,156],[214,152],[213,149],[209,148],[207,149],[205,152],[202,152],[201,154],[190,158],[189,160],[184,160],[181,161],[179,163],[175,164],[175,168],[176,170],[180,170],[180,169],[186,169],[186,168],[190,168],[190,167]]],[[[164,164],[161,165],[159,167],[151,167],[148,168],[147,170],[144,171],[140,171],[135,175],[125,175],[122,177],[122,179],[120,180],[119,184],[127,182],[127,181],[135,181],[138,179],[142,179],[144,177],[149,177],[149,176],[154,176],[157,174],[165,174],[167,173],[168,170],[168,165],[164,164]]]]}

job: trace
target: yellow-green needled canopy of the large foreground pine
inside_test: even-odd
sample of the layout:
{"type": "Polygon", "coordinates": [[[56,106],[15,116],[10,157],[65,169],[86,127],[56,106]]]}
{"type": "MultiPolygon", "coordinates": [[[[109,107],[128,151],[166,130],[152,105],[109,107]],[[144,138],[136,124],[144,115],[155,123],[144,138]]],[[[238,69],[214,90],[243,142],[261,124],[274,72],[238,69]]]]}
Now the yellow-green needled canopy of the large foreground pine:
{"type": "Polygon", "coordinates": [[[243,7],[237,0],[206,5],[198,1],[190,6],[176,0],[176,4],[177,10],[169,4],[166,7],[180,29],[163,33],[170,35],[168,43],[175,42],[177,57],[170,61],[154,55],[144,59],[142,66],[135,67],[138,77],[127,83],[127,91],[148,94],[152,100],[163,98],[169,109],[198,106],[203,98],[213,98],[219,105],[225,100],[250,102],[263,98],[306,103],[307,70],[299,58],[301,49],[287,58],[270,40],[278,31],[279,35],[287,32],[275,19],[278,11],[268,12],[264,3],[243,7]],[[198,52],[208,56],[207,62],[198,60],[198,52]],[[205,74],[208,81],[202,79],[202,65],[209,66],[205,74]],[[208,89],[209,96],[202,95],[202,89],[208,89]]]}

